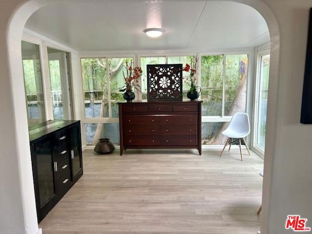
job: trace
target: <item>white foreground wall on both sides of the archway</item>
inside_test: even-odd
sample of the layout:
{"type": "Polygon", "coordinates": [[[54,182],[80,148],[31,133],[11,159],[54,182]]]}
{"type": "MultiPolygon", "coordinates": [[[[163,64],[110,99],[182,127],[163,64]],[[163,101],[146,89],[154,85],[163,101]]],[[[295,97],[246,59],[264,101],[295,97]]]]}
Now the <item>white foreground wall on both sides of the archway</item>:
{"type": "MultiPolygon", "coordinates": [[[[286,216],[289,214],[308,218],[308,226],[312,227],[312,155],[309,140],[312,126],[299,123],[309,8],[312,2],[236,1],[257,9],[267,20],[271,35],[261,232],[292,233],[285,230],[286,216]]],[[[0,98],[6,100],[2,101],[0,111],[1,234],[34,234],[38,231],[19,40],[24,23],[32,13],[31,9],[36,10],[48,0],[29,1],[27,7],[23,6],[22,11],[17,12],[8,31],[10,43],[7,46],[8,20],[20,2],[6,0],[0,7],[0,98]]]]}

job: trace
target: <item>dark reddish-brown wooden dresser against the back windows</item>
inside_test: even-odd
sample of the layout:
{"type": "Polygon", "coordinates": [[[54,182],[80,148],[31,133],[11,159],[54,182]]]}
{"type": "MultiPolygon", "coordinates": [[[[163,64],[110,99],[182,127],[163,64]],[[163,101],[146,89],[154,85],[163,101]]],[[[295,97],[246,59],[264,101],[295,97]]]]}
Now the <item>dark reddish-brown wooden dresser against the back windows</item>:
{"type": "Polygon", "coordinates": [[[198,149],[201,101],[122,102],[120,155],[125,149],[198,149]]]}

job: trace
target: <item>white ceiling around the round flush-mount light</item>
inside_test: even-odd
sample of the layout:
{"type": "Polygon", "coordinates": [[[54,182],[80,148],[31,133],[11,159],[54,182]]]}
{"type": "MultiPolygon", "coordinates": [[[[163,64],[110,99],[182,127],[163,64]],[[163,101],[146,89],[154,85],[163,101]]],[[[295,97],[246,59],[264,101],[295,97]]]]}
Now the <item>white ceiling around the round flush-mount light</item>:
{"type": "Polygon", "coordinates": [[[227,1],[57,3],[36,11],[25,28],[78,51],[204,51],[270,40],[256,10],[227,1]],[[149,27],[166,32],[151,39],[142,32],[149,27]]]}

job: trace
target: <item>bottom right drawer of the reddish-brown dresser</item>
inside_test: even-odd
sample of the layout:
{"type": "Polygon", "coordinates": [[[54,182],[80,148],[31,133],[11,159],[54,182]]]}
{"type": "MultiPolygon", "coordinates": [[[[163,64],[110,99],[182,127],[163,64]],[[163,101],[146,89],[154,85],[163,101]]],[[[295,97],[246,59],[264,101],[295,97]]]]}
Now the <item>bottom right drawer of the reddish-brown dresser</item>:
{"type": "Polygon", "coordinates": [[[160,144],[166,146],[196,146],[197,136],[160,136],[160,144]]]}

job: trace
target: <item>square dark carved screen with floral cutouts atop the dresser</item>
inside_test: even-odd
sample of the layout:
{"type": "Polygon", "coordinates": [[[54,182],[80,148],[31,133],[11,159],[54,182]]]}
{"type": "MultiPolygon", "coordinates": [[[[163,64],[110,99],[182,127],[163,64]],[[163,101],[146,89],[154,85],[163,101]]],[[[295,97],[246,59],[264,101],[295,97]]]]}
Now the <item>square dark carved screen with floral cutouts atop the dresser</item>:
{"type": "Polygon", "coordinates": [[[182,64],[147,65],[147,100],[182,101],[182,64]]]}

